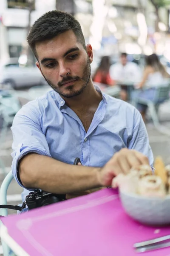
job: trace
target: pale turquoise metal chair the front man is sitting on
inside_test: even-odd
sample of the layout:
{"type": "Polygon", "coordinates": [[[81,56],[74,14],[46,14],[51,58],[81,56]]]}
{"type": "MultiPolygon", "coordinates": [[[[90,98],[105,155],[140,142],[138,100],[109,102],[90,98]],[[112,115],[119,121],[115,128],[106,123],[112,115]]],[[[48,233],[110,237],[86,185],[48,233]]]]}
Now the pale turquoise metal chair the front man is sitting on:
{"type": "MultiPolygon", "coordinates": [[[[7,189],[8,189],[9,184],[11,183],[12,179],[13,179],[13,175],[12,175],[12,171],[10,171],[6,175],[5,179],[3,180],[2,185],[0,187],[0,204],[7,204],[7,200],[6,200],[7,189]]],[[[0,215],[7,216],[8,215],[7,209],[0,209],[0,215]]],[[[0,224],[2,224],[1,221],[0,221],[0,224]]],[[[10,251],[9,247],[7,246],[7,244],[3,240],[1,240],[1,242],[2,242],[2,247],[3,247],[3,255],[4,256],[9,256],[9,255],[12,256],[12,255],[14,255],[10,251]]]]}

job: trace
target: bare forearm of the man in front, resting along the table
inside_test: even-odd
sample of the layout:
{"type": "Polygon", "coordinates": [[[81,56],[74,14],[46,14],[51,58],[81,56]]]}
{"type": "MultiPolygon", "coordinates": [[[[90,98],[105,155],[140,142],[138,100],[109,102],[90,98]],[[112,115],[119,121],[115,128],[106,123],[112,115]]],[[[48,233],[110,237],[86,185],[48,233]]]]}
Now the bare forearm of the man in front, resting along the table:
{"type": "Polygon", "coordinates": [[[39,188],[57,194],[101,186],[99,168],[62,163],[39,154],[28,154],[20,161],[20,180],[28,188],[39,188]]]}

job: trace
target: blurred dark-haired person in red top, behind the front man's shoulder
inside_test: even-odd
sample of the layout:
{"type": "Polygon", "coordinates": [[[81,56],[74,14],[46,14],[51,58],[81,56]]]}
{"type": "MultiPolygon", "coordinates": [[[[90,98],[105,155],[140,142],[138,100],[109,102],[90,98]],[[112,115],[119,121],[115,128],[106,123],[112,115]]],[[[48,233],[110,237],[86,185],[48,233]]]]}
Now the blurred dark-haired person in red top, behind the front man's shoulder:
{"type": "Polygon", "coordinates": [[[94,82],[107,84],[107,85],[114,85],[115,81],[111,79],[109,70],[111,67],[111,60],[109,56],[103,56],[99,63],[98,68],[96,69],[92,79],[94,82]]]}

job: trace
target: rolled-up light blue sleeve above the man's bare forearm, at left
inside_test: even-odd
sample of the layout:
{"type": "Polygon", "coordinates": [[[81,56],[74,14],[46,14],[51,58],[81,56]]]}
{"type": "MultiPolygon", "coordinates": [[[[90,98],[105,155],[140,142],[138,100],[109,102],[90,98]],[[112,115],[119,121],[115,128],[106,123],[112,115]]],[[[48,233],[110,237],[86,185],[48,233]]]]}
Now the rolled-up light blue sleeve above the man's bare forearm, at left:
{"type": "MultiPolygon", "coordinates": [[[[11,127],[13,134],[13,152],[11,154],[12,174],[20,186],[17,166],[20,159],[31,152],[51,157],[45,135],[42,133],[42,117],[36,102],[25,105],[14,117],[11,127]]],[[[28,189],[28,188],[27,188],[28,189]]]]}

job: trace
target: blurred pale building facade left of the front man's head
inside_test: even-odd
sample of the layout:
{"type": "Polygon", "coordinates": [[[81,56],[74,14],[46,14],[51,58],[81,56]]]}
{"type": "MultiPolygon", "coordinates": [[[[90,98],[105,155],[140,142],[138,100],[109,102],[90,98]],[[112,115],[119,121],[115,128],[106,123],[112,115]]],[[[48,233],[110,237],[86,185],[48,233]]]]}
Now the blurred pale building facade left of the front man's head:
{"type": "Polygon", "coordinates": [[[0,59],[19,57],[32,25],[43,13],[56,8],[56,0],[0,0],[0,59]]]}

